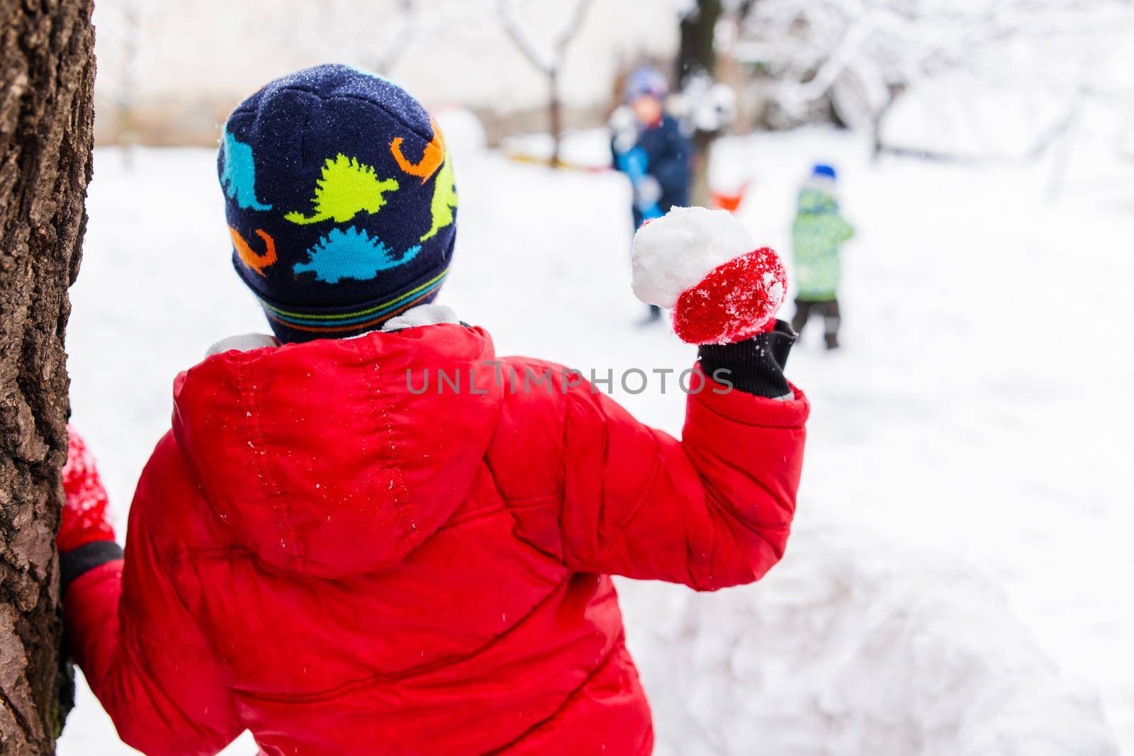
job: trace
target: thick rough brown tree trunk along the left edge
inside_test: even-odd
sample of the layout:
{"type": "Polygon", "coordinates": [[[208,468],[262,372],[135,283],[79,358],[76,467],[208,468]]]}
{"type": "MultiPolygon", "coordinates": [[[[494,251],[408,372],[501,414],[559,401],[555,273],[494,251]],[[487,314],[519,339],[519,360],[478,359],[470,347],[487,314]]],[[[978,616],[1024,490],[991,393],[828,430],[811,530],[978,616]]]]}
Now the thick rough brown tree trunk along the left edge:
{"type": "Polygon", "coordinates": [[[93,142],[92,0],[0,0],[0,753],[62,727],[54,533],[67,457],[67,288],[93,142]]]}

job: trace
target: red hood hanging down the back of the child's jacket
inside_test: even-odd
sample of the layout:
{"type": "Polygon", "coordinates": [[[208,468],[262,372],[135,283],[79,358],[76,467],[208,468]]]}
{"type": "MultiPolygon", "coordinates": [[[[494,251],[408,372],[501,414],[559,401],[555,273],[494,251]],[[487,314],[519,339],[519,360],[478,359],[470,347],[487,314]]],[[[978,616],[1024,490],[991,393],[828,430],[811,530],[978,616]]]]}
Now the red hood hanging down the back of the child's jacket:
{"type": "Polygon", "coordinates": [[[178,376],[174,435],[219,526],[268,563],[381,570],[465,498],[500,411],[492,359],[456,324],[227,351],[178,376]]]}

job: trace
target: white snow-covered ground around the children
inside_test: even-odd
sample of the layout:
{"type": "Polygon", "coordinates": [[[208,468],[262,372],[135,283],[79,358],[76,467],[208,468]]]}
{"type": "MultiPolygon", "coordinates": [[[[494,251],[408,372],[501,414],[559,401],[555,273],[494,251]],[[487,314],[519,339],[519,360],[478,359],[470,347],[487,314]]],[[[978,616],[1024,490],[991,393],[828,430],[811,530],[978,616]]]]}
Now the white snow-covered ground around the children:
{"type": "MultiPolygon", "coordinates": [[[[692,348],[638,325],[619,177],[460,141],[442,301],[501,354],[616,375],[688,365],[692,348]]],[[[620,583],[659,755],[1134,754],[1134,173],[1078,154],[1053,201],[1046,164],[871,165],[833,131],[733,139],[716,169],[753,180],[741,216],[758,241],[787,249],[816,159],[840,168],[860,235],[844,350],[821,351],[813,323],[789,364],[813,414],[788,555],[714,595],[620,583]]],[[[265,325],[228,262],[212,153],[144,150],[127,169],[102,151],[88,207],[74,422],[122,525],[174,374],[265,325]]],[[[617,396],[677,433],[684,397],[667,388],[617,396]]],[[[59,753],[132,751],[84,690],[59,753]]]]}

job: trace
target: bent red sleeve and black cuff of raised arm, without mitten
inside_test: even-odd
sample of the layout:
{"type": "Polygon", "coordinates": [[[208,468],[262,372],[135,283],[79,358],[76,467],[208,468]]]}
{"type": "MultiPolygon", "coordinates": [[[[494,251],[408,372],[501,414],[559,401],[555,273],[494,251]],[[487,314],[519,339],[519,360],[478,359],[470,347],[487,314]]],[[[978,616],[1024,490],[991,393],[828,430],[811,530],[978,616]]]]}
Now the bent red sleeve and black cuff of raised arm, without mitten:
{"type": "MultiPolygon", "coordinates": [[[[770,387],[777,375],[784,380],[781,358],[793,340],[777,331],[712,354],[703,350],[701,367],[710,374],[727,367],[729,380],[750,390],[770,387]]],[[[668,580],[697,591],[762,577],[784,555],[809,405],[794,389],[787,400],[726,389],[708,381],[688,397],[678,441],[637,422],[589,383],[572,387],[559,408],[559,448],[518,444],[528,455],[558,452],[562,465],[552,504],[557,512],[528,507],[535,496],[515,496],[522,533],[583,572],[668,580]]],[[[524,465],[521,459],[490,461],[494,470],[524,465]]],[[[523,493],[507,477],[502,483],[506,496],[509,489],[523,493]]]]}

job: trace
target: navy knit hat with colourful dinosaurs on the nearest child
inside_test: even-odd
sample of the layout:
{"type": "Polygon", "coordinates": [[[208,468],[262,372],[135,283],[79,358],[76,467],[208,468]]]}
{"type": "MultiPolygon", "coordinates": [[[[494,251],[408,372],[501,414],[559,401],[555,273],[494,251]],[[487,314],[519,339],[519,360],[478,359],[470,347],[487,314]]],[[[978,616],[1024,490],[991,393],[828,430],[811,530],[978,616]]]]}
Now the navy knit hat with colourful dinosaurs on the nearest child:
{"type": "Polygon", "coordinates": [[[217,170],[232,264],[281,341],[372,331],[437,296],[452,163],[397,85],[338,65],[278,78],[228,117],[217,170]]]}

